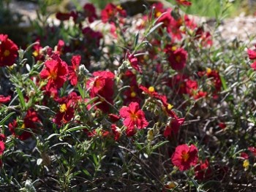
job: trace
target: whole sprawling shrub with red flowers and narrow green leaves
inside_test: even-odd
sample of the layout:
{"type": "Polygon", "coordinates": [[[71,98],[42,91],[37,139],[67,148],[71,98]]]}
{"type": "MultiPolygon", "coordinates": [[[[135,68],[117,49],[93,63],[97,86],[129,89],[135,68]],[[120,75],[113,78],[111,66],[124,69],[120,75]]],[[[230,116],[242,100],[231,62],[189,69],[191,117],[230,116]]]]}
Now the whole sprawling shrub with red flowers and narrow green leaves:
{"type": "Polygon", "coordinates": [[[1,189],[255,188],[256,52],[176,2],[58,12],[25,50],[0,34],[1,189]]]}

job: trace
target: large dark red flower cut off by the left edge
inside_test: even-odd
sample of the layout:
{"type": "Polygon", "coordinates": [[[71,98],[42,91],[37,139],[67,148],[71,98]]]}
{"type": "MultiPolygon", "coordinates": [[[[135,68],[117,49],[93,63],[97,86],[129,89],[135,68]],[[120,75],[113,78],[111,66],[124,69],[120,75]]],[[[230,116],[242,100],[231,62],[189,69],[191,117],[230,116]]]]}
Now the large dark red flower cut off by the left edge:
{"type": "Polygon", "coordinates": [[[0,34],[0,66],[12,66],[17,56],[18,46],[7,34],[0,34]]]}

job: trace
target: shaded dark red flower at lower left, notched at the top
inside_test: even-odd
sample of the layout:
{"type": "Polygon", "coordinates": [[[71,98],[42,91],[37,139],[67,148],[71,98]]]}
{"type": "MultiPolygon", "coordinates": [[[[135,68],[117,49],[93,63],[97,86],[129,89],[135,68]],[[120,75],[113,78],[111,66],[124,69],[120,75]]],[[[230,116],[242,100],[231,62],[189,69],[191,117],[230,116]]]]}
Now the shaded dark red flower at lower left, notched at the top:
{"type": "Polygon", "coordinates": [[[9,130],[14,137],[17,137],[20,140],[26,140],[31,137],[31,131],[37,131],[41,121],[37,116],[37,112],[34,110],[28,110],[26,117],[23,119],[23,123],[18,125],[18,122],[14,120],[12,123],[9,123],[9,130]],[[28,130],[30,128],[31,130],[28,130]]]}

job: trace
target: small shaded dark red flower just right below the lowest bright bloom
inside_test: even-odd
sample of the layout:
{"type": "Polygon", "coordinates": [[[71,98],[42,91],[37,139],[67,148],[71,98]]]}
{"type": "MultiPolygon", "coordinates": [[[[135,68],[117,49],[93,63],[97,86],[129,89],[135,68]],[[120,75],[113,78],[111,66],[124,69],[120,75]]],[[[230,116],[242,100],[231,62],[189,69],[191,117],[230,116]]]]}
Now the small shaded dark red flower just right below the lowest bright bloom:
{"type": "Polygon", "coordinates": [[[200,161],[200,164],[195,166],[195,178],[197,180],[205,180],[209,177],[211,177],[211,169],[209,169],[209,162],[206,159],[206,161],[200,161]]]}

